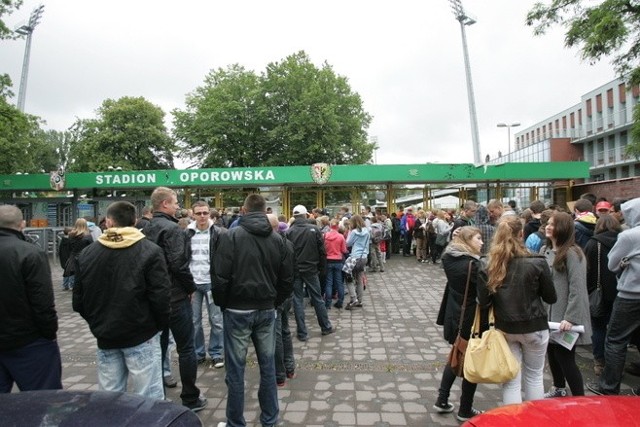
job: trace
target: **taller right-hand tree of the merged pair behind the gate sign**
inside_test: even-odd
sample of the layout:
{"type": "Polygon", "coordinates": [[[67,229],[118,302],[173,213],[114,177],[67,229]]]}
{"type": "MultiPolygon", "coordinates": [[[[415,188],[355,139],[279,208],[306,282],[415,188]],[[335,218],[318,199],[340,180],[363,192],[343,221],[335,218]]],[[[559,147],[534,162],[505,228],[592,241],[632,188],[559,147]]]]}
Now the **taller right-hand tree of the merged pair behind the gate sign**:
{"type": "Polygon", "coordinates": [[[304,52],[267,66],[263,79],[270,165],[366,163],[371,116],[348,81],[304,52]],[[268,96],[267,96],[268,95],[268,96]]]}

